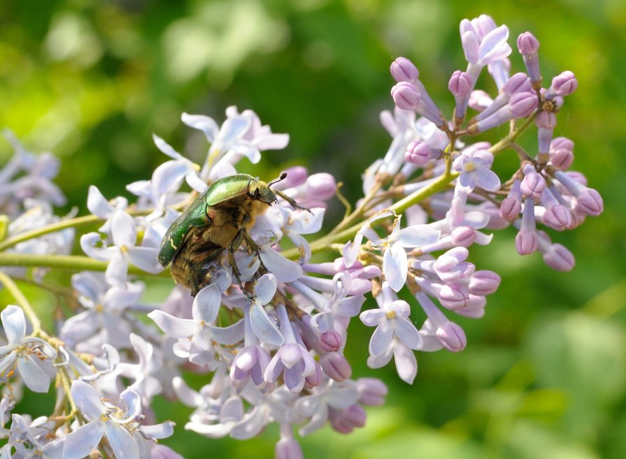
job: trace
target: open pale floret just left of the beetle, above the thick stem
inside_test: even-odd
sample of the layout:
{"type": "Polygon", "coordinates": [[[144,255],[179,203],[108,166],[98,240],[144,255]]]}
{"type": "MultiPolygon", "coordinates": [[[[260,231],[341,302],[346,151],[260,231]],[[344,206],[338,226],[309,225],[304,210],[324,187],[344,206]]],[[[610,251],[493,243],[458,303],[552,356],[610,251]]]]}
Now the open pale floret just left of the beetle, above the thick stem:
{"type": "Polygon", "coordinates": [[[102,242],[99,233],[87,233],[80,238],[80,248],[87,256],[109,262],[105,275],[110,284],[125,284],[129,262],[145,272],[156,273],[163,270],[157,261],[158,248],[136,245],[136,222],[126,212],[118,210],[113,215],[111,237],[113,238],[113,245],[109,247],[99,247],[102,242]]]}

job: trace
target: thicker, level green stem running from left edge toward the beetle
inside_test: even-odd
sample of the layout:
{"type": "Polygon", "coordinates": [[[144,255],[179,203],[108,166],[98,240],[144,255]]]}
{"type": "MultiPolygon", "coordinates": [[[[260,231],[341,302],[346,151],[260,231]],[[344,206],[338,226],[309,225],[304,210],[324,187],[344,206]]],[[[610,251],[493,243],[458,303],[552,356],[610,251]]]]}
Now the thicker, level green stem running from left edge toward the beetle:
{"type": "MultiPolygon", "coordinates": [[[[88,256],[80,255],[31,255],[31,254],[3,254],[0,253],[0,266],[40,266],[73,271],[106,271],[108,261],[97,261],[88,256]]],[[[152,277],[169,277],[169,272],[150,274],[135,265],[128,266],[129,274],[152,277]]]]}

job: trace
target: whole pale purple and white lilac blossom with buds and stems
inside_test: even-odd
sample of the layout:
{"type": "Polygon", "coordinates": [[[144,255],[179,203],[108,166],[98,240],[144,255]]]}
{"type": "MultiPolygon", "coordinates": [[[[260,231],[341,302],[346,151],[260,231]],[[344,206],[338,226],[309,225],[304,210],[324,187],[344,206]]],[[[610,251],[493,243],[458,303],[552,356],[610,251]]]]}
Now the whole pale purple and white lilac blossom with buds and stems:
{"type": "Polygon", "coordinates": [[[259,254],[237,248],[237,270],[226,253],[214,258],[194,297],[175,285],[162,303],[145,303],[146,284],[137,277],[162,274],[157,254],[164,234],[197,194],[234,175],[241,159],[258,163],[261,152],[284,148],[286,134],[272,133],[251,110],[228,108],[221,126],[183,114],[183,122],[210,144],[204,162],[190,161],[155,136],[170,159],[149,180],[127,186],[134,203],[121,196],[108,200],[90,187],[90,221],[100,226],[80,236],[86,257],[64,256],[83,220],[52,215],[52,205],[64,203],[50,182],[56,160],[27,153],[10,137],[15,156],[0,170],[6,214],[0,249],[20,255],[15,265],[32,260],[33,267],[79,272],[66,289],[46,284],[45,271],[38,271],[37,284],[68,305],[57,310],[56,333],[48,333],[17,286],[25,268],[6,261],[0,270],[0,282],[17,303],[0,317],[0,437],[8,439],[0,458],[80,459],[94,450],[118,459],[180,458],[157,443],[174,427],[157,422],[151,408],[157,396],[192,407],[185,428],[206,437],[248,439],[277,423],[276,458],[301,458],[294,432],[308,435],[326,423],[351,432],[364,425],[364,406],[382,404],[387,394],[378,379],[352,379],[343,351],[353,317],[374,328],[369,367],[394,358],[399,377],[411,383],[418,371],[414,351],[464,349],[464,330],[448,316],[480,318],[486,296],[499,286],[495,272],[468,261],[469,247],[492,240],[486,231],[513,226],[520,254],[539,250],[551,267],[571,269],[571,253],[536,223],[563,231],[602,212],[597,191],[569,171],[573,143],[553,138],[555,115],[576,89],[576,78],[564,72],[544,89],[539,42],[529,32],[517,42],[526,73],[510,75],[508,28],[486,15],[463,20],[460,34],[468,64],[450,78],[451,120],[411,61],[395,59],[396,108],[380,116],[392,143],[365,171],[364,197],[355,210],[317,235],[327,201],[337,194],[335,178],[290,168],[273,189],[303,208],[279,197],[249,231],[259,254]],[[493,98],[475,89],[484,67],[498,90],[493,98]],[[469,117],[470,109],[476,115],[469,117]],[[469,143],[504,123],[511,131],[499,143],[469,143]],[[533,124],[538,142],[529,154],[515,139],[533,124]],[[518,156],[520,166],[501,180],[492,163],[505,150],[518,156]],[[313,258],[322,250],[335,251],[334,261],[313,258]],[[36,261],[29,258],[34,255],[36,261]],[[405,290],[418,307],[401,299],[408,298],[399,294],[405,290]],[[364,310],[370,294],[376,307],[364,310]],[[190,388],[183,369],[206,375],[206,384],[190,388]],[[53,380],[57,403],[50,416],[13,412],[24,386],[46,393],[53,380]]]}

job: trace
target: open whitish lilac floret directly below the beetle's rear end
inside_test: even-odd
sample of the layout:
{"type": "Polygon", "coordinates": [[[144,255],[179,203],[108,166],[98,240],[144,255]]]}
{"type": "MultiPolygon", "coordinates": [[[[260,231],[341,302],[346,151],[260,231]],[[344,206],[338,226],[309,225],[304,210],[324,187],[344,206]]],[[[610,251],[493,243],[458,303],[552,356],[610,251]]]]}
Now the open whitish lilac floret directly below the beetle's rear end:
{"type": "Polygon", "coordinates": [[[189,358],[197,365],[215,364],[215,344],[236,344],[243,339],[243,319],[228,327],[214,326],[221,305],[218,286],[210,284],[197,294],[192,306],[192,319],[179,319],[166,312],[155,310],[148,317],[163,332],[178,339],[175,349],[180,357],[189,358]]]}

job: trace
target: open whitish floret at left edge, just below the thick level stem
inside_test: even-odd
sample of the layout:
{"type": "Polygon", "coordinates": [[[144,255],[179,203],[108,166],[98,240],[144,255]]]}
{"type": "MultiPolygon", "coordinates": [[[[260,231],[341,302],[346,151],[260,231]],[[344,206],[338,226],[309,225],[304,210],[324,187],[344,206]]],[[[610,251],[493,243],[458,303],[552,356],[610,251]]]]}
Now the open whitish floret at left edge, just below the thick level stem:
{"type": "Polygon", "coordinates": [[[8,341],[0,347],[0,377],[6,382],[17,370],[31,391],[48,392],[50,377],[44,369],[57,352],[41,338],[26,335],[26,317],[21,307],[8,305],[0,319],[8,341]]]}

